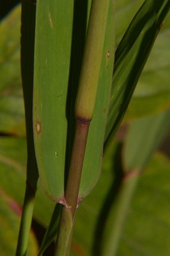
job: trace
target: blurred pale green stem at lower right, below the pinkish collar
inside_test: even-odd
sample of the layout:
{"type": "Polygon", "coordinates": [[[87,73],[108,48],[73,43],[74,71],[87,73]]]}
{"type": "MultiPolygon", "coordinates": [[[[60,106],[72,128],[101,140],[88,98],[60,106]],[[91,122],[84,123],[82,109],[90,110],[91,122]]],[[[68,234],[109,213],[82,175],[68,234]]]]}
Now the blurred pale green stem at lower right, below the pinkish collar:
{"type": "Polygon", "coordinates": [[[102,256],[116,255],[117,245],[120,239],[122,225],[126,217],[131,198],[138,181],[140,171],[133,170],[124,176],[120,190],[117,194],[109,216],[107,218],[107,226],[103,235],[102,256]]]}

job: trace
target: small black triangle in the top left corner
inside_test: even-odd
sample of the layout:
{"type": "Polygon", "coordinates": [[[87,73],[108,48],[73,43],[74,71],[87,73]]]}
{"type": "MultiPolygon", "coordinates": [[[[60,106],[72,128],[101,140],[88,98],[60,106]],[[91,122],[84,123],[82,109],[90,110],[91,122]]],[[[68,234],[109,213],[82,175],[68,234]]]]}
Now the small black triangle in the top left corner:
{"type": "Polygon", "coordinates": [[[0,19],[7,15],[7,13],[19,2],[20,0],[0,0],[0,19]]]}

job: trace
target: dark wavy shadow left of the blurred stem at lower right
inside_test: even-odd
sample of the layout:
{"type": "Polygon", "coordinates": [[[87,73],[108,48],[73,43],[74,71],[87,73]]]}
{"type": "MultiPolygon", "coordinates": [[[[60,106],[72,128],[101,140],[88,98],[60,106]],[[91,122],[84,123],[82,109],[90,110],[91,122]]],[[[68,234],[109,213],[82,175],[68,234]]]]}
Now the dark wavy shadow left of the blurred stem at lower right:
{"type": "Polygon", "coordinates": [[[123,169],[121,166],[121,149],[122,144],[119,143],[116,148],[116,152],[112,155],[113,157],[113,181],[110,189],[105,197],[104,203],[100,210],[100,215],[97,220],[96,229],[94,232],[94,242],[92,247],[92,255],[100,255],[101,252],[101,241],[104,231],[104,226],[110,211],[112,204],[115,201],[116,195],[119,191],[121,180],[123,177],[123,169]]]}

